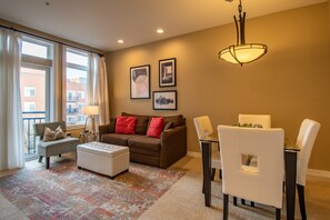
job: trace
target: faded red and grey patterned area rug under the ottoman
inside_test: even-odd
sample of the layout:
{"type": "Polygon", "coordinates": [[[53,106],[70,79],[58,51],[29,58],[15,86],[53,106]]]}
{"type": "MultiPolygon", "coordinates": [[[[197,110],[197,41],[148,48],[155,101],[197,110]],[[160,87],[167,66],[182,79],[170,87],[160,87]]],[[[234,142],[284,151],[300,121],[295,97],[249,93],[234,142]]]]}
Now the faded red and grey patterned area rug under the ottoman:
{"type": "Polygon", "coordinates": [[[1,178],[1,196],[29,219],[137,219],[184,174],[130,163],[111,180],[70,159],[52,166],[1,178]]]}

